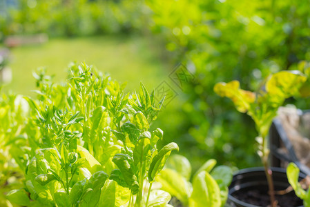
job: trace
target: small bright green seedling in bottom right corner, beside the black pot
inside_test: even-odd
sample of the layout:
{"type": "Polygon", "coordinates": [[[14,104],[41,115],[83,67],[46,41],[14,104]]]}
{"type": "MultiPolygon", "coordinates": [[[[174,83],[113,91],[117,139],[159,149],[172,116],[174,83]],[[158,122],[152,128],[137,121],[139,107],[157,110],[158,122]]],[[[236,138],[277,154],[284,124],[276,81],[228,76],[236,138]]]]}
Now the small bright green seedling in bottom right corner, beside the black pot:
{"type": "Polygon", "coordinates": [[[310,206],[310,190],[309,188],[307,191],[304,190],[301,184],[298,182],[299,172],[300,170],[298,166],[296,166],[296,164],[294,163],[290,163],[289,166],[287,166],[287,179],[289,180],[289,184],[291,184],[291,187],[295,191],[295,194],[304,201],[304,207],[309,207],[310,206]]]}

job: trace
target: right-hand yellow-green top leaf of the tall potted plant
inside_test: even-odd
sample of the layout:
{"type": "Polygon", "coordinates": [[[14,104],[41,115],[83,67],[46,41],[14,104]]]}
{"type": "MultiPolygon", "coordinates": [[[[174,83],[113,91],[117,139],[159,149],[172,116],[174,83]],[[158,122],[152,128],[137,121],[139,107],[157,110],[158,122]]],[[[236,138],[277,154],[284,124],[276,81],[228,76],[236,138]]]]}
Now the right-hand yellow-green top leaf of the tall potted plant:
{"type": "Polygon", "coordinates": [[[273,101],[277,101],[276,99],[282,101],[282,99],[299,95],[300,87],[305,81],[307,77],[300,71],[284,70],[271,75],[266,83],[266,90],[273,101]]]}

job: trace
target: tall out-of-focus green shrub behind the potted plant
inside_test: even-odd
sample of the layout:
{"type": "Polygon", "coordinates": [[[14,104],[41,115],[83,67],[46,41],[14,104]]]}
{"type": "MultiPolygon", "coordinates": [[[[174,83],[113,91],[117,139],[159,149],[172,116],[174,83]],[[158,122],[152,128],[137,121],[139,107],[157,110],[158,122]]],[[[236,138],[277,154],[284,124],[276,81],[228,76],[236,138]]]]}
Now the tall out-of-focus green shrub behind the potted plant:
{"type": "MultiPolygon", "coordinates": [[[[147,3],[153,10],[153,31],[166,37],[175,61],[182,59],[195,71],[195,81],[184,88],[187,121],[174,137],[186,146],[189,137],[195,139],[189,150],[193,157],[216,157],[239,167],[258,164],[253,121],[217,97],[213,86],[238,79],[242,88],[252,90],[271,72],[309,60],[309,0],[147,3]],[[177,135],[184,129],[186,135],[177,135]]],[[[307,102],[297,104],[309,107],[307,102]]]]}

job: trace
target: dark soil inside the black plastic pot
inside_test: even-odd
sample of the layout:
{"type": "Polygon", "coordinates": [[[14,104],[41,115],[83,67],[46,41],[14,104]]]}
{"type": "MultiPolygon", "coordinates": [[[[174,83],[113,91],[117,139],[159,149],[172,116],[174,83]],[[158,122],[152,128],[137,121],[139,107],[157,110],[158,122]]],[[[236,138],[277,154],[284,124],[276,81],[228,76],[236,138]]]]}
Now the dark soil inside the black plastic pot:
{"type": "MultiPolygon", "coordinates": [[[[248,190],[246,192],[238,190],[233,193],[233,197],[255,206],[270,206],[269,195],[260,192],[260,190],[248,190]]],[[[302,206],[302,200],[293,192],[286,195],[275,195],[275,199],[277,199],[280,207],[302,206]]]]}

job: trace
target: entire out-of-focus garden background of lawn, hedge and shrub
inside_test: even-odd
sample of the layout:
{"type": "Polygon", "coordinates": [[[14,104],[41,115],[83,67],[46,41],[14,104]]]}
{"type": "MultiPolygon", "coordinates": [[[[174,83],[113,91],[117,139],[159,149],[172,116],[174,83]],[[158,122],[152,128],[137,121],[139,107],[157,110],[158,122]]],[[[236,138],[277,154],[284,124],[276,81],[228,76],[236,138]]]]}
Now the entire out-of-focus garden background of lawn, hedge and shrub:
{"type": "MultiPolygon", "coordinates": [[[[1,46],[8,38],[47,34],[46,43],[10,48],[12,82],[3,90],[32,95],[32,71],[44,66],[57,81],[70,61],[86,61],[128,90],[166,81],[176,97],[155,122],[197,168],[258,166],[253,121],[217,97],[218,81],[253,90],[272,72],[310,60],[309,0],[0,0],[1,46]],[[182,63],[194,79],[169,78],[182,63]]],[[[289,99],[299,108],[309,100],[289,99]]]]}

